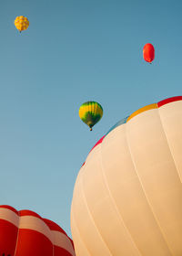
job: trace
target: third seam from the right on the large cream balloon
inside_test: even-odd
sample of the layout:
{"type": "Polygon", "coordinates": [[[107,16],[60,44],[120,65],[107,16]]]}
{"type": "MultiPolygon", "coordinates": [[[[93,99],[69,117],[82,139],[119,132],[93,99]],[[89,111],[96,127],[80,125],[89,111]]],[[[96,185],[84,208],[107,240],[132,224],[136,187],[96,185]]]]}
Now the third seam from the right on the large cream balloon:
{"type": "MultiPolygon", "coordinates": [[[[126,123],[124,123],[125,125],[126,123]]],[[[104,177],[104,181],[105,181],[105,186],[107,188],[107,191],[108,191],[108,194],[109,194],[109,197],[111,198],[111,201],[112,201],[112,204],[114,205],[115,209],[116,209],[116,214],[118,216],[118,219],[120,220],[120,222],[123,224],[124,228],[126,229],[126,233],[128,234],[128,237],[129,239],[131,240],[132,244],[134,245],[134,247],[136,248],[136,251],[138,252],[139,255],[142,255],[141,254],[141,251],[138,250],[137,246],[136,246],[136,243],[135,241],[133,240],[131,234],[129,233],[129,230],[127,229],[126,227],[126,224],[124,222],[124,219],[122,218],[121,214],[119,213],[119,210],[116,206],[116,201],[114,199],[114,197],[112,196],[112,193],[110,191],[110,188],[108,187],[108,183],[107,183],[107,179],[106,179],[106,175],[104,173],[104,168],[103,168],[103,161],[102,161],[102,156],[101,156],[101,149],[100,149],[100,163],[101,163],[101,169],[102,169],[102,176],[104,177]]]]}

